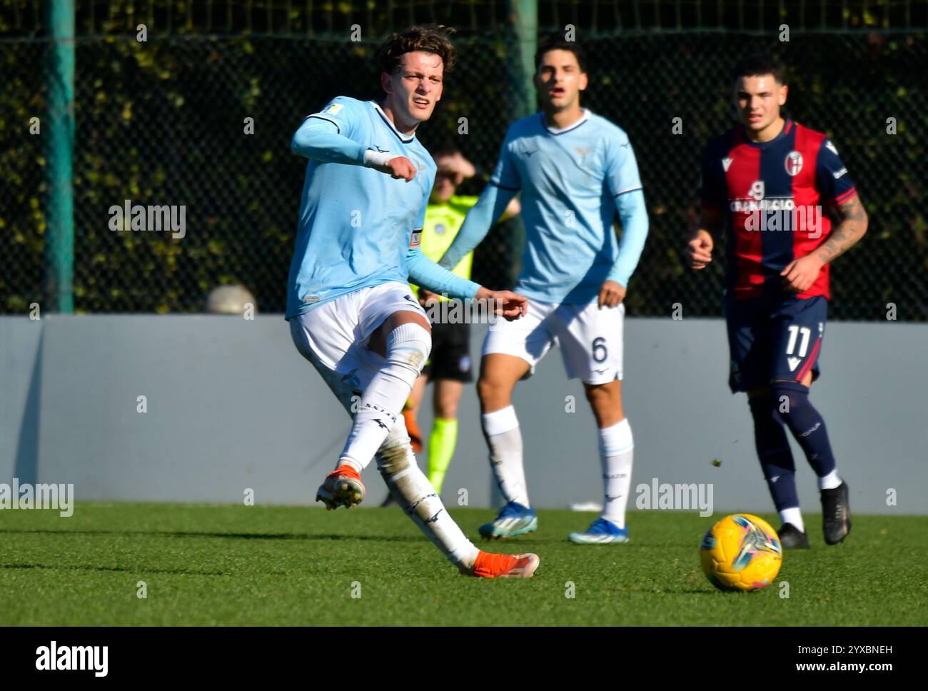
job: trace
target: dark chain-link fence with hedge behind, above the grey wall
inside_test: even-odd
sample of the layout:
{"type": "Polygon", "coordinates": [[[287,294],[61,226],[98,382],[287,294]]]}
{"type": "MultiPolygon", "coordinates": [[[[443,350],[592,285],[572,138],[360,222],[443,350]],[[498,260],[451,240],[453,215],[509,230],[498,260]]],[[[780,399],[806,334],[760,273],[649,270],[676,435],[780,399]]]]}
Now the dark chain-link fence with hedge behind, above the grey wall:
{"type": "MultiPolygon", "coordinates": [[[[112,5],[118,4],[107,6],[108,20],[115,21],[112,5]]],[[[192,4],[191,18],[202,5],[192,4]]],[[[234,3],[205,5],[235,10],[232,24],[241,9],[234,3]]],[[[275,11],[280,5],[265,4],[275,11]]],[[[447,19],[434,4],[406,5],[403,25],[447,19]]],[[[458,69],[448,75],[445,96],[419,138],[427,147],[453,141],[484,172],[492,171],[513,119],[504,69],[511,41],[500,23],[506,3],[447,5],[470,17],[462,20],[470,29],[456,38],[458,69]],[[494,31],[481,31],[481,22],[492,22],[494,31]],[[468,119],[468,134],[458,134],[462,117],[468,119]]],[[[690,315],[719,314],[722,262],[702,275],[683,264],[685,237],[697,210],[699,160],[706,140],[731,126],[733,63],[748,52],[775,49],[791,68],[789,114],[831,135],[870,213],[868,235],[835,262],[831,316],[885,318],[886,303],[893,302],[899,319],[928,319],[925,33],[883,25],[870,32],[793,31],[789,42],[781,42],[779,25],[763,35],[697,32],[675,28],[666,18],[664,31],[651,32],[646,30],[663,15],[649,15],[647,3],[592,5],[598,8],[597,32],[585,34],[582,23],[576,27],[589,55],[591,83],[584,103],[628,133],[651,217],[648,243],[626,298],[629,314],[666,315],[675,302],[690,315]],[[629,7],[638,8],[638,25],[629,7]],[[681,119],[682,134],[674,134],[675,118],[681,119]],[[887,133],[890,118],[896,134],[887,133]]],[[[664,5],[675,6],[655,3],[664,5]]],[[[898,9],[899,4],[889,5],[898,9]]],[[[921,11],[918,3],[906,5],[921,11]]],[[[692,19],[692,6],[686,7],[692,19]]],[[[570,10],[574,20],[591,21],[589,6],[577,19],[576,6],[564,3],[542,3],[540,19],[561,25],[561,15],[551,14],[555,8],[561,14],[570,10]]],[[[164,7],[148,9],[157,23],[155,15],[164,7]]],[[[85,6],[84,26],[86,12],[85,6]]],[[[77,312],[199,311],[210,289],[226,283],[249,288],[263,312],[283,311],[304,169],[304,160],[290,153],[290,136],[304,115],[332,96],[379,96],[377,39],[353,42],[347,30],[338,38],[334,30],[307,37],[312,24],[296,26],[298,18],[292,16],[294,26],[286,35],[234,35],[227,28],[214,35],[201,16],[197,24],[180,10],[175,19],[186,27],[183,32],[151,32],[147,42],[124,28],[119,35],[101,35],[100,27],[86,32],[91,35],[79,32],[73,177],[77,312]],[[112,231],[110,208],[127,199],[184,206],[185,237],[112,231]]],[[[332,11],[329,17],[344,19],[332,11]]],[[[117,19],[132,25],[145,13],[117,19]]],[[[907,20],[913,21],[911,11],[907,20]]],[[[711,21],[702,17],[703,23],[711,21]]],[[[264,26],[286,31],[279,21],[264,26]]],[[[9,27],[7,13],[3,28],[9,27]]],[[[0,41],[0,234],[5,240],[0,311],[6,313],[24,313],[43,297],[45,152],[41,134],[30,134],[30,122],[45,115],[47,47],[41,35],[0,41]]],[[[471,183],[461,191],[479,189],[480,183],[471,183]]],[[[494,287],[511,282],[518,258],[512,238],[519,237],[513,224],[518,221],[498,226],[477,250],[475,280],[494,287]]]]}

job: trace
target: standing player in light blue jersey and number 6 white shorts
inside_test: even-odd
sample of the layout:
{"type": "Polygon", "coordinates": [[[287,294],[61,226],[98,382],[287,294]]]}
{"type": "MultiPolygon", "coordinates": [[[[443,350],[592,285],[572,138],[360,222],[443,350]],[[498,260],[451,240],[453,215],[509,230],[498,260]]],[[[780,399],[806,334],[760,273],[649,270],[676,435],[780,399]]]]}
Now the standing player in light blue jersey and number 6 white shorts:
{"type": "Polygon", "coordinates": [[[600,517],[569,539],[625,543],[633,443],[622,409],[622,301],[648,235],[648,214],[625,132],[580,106],[588,82],[580,46],[543,43],[535,69],[542,111],[509,127],[490,185],[439,262],[456,265],[521,192],[526,238],[516,291],[532,300],[532,309],[519,322],[491,326],[483,341],[477,383],[483,434],[507,504],[480,532],[504,538],[537,529],[512,390],[557,343],[596,417],[605,487],[600,517]],[[616,211],[621,244],[612,231],[616,211]]]}

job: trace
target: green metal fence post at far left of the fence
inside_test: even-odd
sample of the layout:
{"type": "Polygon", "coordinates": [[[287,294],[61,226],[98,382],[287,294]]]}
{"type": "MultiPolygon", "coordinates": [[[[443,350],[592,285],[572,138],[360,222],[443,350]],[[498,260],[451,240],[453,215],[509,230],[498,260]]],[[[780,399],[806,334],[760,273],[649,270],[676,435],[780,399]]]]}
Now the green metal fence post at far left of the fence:
{"type": "Polygon", "coordinates": [[[74,312],[74,0],[48,0],[45,26],[52,39],[45,64],[45,301],[74,312]]]}

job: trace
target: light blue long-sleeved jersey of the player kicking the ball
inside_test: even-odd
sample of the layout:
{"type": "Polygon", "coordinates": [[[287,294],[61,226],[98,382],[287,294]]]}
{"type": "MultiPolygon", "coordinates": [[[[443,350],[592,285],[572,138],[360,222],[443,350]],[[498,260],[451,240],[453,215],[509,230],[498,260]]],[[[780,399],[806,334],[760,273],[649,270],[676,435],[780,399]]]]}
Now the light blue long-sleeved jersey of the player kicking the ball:
{"type": "Polygon", "coordinates": [[[290,262],[287,318],[342,295],[396,281],[472,298],[479,286],[419,251],[435,162],[415,134],[400,133],[374,101],[334,98],[307,117],[291,148],[309,158],[290,262]],[[411,182],[365,166],[367,150],[404,156],[411,182]]]}

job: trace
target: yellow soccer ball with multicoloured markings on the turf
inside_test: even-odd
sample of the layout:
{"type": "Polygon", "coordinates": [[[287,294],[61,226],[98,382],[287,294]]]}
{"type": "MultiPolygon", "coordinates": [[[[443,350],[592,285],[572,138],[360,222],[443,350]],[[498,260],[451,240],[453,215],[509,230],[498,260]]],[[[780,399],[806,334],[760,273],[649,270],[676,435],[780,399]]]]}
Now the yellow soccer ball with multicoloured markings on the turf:
{"type": "Polygon", "coordinates": [[[726,516],[705,533],[702,570],[719,590],[766,588],[780,573],[783,547],[777,531],[751,514],[726,516]]]}

